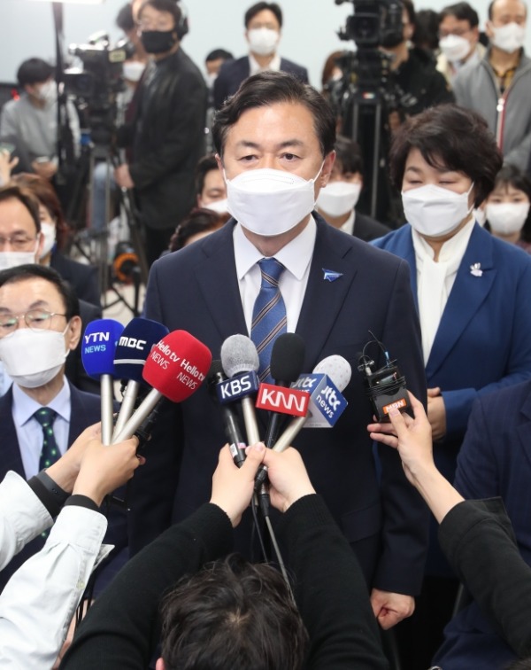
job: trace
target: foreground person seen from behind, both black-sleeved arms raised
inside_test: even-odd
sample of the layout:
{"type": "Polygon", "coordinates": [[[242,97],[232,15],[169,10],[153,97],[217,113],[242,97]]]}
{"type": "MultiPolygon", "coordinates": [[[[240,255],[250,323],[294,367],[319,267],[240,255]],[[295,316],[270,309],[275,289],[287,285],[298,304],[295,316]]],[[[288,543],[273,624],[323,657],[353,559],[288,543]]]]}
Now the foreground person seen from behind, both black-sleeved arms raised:
{"type": "Polygon", "coordinates": [[[211,502],[129,561],[89,610],[61,668],[143,670],[158,641],[160,599],[183,575],[165,597],[157,670],[388,667],[358,561],[293,448],[247,448],[240,470],[222,448],[211,502]],[[222,558],[261,463],[271,503],[282,512],[276,533],[300,614],[271,566],[222,558]]]}

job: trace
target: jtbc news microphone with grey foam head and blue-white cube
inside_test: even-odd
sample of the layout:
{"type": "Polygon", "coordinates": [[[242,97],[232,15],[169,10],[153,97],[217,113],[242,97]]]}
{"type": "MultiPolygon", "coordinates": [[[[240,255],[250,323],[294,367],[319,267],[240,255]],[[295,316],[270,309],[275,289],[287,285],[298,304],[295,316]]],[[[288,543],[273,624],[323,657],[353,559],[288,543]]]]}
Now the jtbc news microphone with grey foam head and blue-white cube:
{"type": "MultiPolygon", "coordinates": [[[[311,375],[302,375],[293,385],[309,395],[308,409],[304,416],[291,419],[288,427],[275,442],[273,451],[281,453],[295,440],[302,428],[332,428],[347,406],[342,391],[349,385],[352,369],[350,363],[337,354],[323,358],[311,375]]],[[[261,465],[256,476],[256,487],[260,487],[267,476],[267,468],[261,465]]]]}

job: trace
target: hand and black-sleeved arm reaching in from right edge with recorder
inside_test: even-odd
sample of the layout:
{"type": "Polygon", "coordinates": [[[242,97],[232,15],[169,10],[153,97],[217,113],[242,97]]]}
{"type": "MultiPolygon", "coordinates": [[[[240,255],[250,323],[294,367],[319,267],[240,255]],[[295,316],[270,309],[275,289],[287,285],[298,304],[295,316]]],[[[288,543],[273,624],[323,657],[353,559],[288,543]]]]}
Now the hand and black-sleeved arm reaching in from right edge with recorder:
{"type": "MultiPolygon", "coordinates": [[[[391,410],[390,424],[368,426],[377,442],[398,449],[405,476],[422,495],[439,526],[441,547],[481,610],[519,658],[531,667],[531,567],[519,554],[501,498],[465,500],[437,470],[432,430],[410,393],[414,418],[391,410]]],[[[481,645],[476,640],[476,645],[481,645]]],[[[485,668],[471,658],[443,668],[485,668]]],[[[496,668],[500,666],[497,665],[496,668]]]]}

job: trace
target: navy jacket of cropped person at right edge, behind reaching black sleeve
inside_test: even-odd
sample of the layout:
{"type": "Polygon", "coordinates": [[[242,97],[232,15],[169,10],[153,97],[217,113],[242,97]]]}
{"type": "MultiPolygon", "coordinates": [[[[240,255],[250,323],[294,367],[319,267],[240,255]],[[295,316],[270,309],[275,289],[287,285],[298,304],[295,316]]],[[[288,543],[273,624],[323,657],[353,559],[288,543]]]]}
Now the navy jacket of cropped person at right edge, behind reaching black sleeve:
{"type": "MultiPolygon", "coordinates": [[[[481,396],[474,403],[455,479],[455,487],[466,499],[503,498],[527,565],[531,565],[530,481],[531,381],[527,381],[481,396]]],[[[502,667],[516,656],[497,634],[493,621],[473,603],[446,627],[437,658],[443,667],[487,670],[502,667]]]]}

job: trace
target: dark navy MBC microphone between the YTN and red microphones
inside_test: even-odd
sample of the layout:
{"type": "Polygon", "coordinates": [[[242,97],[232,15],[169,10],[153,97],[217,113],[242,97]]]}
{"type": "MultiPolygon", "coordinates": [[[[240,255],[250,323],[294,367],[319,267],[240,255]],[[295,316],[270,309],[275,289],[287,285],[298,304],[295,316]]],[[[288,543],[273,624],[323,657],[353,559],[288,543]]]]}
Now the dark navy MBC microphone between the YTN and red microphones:
{"type": "Polygon", "coordinates": [[[115,376],[127,379],[127,386],[114,425],[112,438],[119,434],[135,409],[142,385],[142,370],[151,347],[169,333],[162,323],[136,317],[124,328],[114,354],[115,376]]]}

